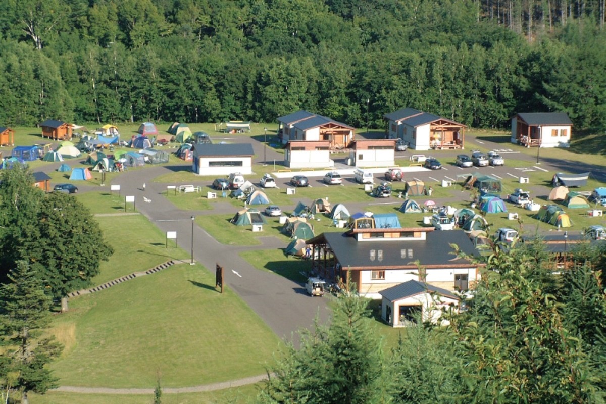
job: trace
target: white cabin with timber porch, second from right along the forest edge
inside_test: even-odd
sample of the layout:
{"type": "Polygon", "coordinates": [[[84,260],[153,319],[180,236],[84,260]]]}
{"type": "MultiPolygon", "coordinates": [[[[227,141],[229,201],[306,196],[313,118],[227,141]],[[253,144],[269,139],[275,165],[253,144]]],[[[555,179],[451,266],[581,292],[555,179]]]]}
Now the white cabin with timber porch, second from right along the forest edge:
{"type": "Polygon", "coordinates": [[[414,150],[462,149],[464,147],[464,124],[438,115],[402,108],[385,114],[385,137],[402,139],[414,150]]]}

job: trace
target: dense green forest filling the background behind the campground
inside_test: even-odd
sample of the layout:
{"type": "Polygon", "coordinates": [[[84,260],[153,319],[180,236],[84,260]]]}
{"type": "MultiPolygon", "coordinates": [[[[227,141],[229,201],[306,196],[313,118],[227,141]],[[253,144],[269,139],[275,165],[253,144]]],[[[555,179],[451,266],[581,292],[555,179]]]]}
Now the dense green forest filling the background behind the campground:
{"type": "Polygon", "coordinates": [[[245,119],[606,128],[605,0],[5,0],[0,124],[245,119]]]}

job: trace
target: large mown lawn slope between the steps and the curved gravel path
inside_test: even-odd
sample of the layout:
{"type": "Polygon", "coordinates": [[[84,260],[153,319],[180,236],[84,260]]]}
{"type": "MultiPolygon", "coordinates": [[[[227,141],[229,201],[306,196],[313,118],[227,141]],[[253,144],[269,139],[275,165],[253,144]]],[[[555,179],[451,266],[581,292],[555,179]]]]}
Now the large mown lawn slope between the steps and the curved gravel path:
{"type": "MultiPolygon", "coordinates": [[[[64,386],[153,388],[262,374],[279,340],[229,288],[199,265],[159,273],[70,301],[56,329],[70,348],[51,368],[64,386]]],[[[52,331],[52,330],[51,330],[52,331]]]]}

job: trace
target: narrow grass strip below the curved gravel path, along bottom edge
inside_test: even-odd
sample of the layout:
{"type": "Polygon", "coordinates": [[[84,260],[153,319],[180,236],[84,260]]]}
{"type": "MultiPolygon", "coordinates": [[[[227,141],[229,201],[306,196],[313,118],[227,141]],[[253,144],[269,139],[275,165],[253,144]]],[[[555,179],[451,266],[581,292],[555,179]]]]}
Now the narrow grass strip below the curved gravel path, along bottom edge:
{"type": "MultiPolygon", "coordinates": [[[[256,385],[241,386],[232,389],[187,394],[162,394],[162,404],[246,404],[258,392],[256,385]]],[[[32,404],[150,404],[153,394],[78,394],[50,391],[44,396],[30,393],[32,404]]]]}

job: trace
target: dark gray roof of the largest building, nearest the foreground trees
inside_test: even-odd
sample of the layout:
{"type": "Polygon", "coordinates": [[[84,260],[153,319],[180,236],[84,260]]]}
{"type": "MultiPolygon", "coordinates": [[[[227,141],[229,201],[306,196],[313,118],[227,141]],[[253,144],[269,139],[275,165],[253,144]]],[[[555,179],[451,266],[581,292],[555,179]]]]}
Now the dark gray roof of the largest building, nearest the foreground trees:
{"type": "Polygon", "coordinates": [[[373,239],[358,242],[346,233],[324,233],[323,236],[342,268],[416,268],[416,260],[426,267],[471,267],[467,260],[456,258],[450,243],[458,245],[464,253],[479,255],[462,230],[428,231],[425,240],[373,239]],[[401,257],[402,249],[407,250],[405,258],[401,257]],[[413,250],[412,258],[408,258],[408,249],[413,250]],[[383,260],[370,260],[370,250],[383,250],[383,260]]]}

